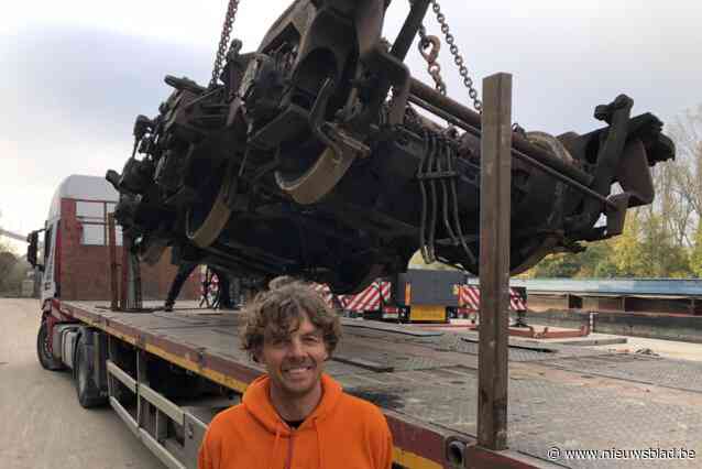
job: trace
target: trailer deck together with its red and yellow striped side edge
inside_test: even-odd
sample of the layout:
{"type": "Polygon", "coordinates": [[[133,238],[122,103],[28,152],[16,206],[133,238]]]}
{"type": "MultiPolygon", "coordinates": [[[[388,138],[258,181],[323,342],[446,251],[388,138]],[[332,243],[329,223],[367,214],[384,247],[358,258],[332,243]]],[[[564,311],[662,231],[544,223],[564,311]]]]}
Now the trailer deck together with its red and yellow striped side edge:
{"type": "MultiPolygon", "coordinates": [[[[239,350],[237,312],[113,313],[95,302],[55,306],[233,390],[243,391],[262,372],[239,350]]],[[[702,465],[679,457],[681,449],[702,455],[702,363],[514,338],[509,343],[507,451],[471,446],[478,415],[473,335],[343,319],[343,338],[327,371],[348,392],[385,411],[396,461],[409,467],[449,467],[445,451],[453,439],[468,444],[467,458],[478,467],[702,465]],[[599,459],[569,450],[647,452],[639,459],[623,452],[629,458],[599,459]]]]}

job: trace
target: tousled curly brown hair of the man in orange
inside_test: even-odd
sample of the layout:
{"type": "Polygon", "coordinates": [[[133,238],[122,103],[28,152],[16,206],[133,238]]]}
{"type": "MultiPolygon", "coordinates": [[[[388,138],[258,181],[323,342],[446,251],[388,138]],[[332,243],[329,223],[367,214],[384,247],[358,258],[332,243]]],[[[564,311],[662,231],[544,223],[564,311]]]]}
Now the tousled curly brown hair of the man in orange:
{"type": "Polygon", "coordinates": [[[341,338],[337,313],[311,285],[289,280],[282,283],[256,295],[244,308],[241,349],[257,361],[256,355],[266,339],[288,337],[299,327],[303,314],[307,314],[309,321],[321,330],[327,353],[331,356],[341,338]]]}

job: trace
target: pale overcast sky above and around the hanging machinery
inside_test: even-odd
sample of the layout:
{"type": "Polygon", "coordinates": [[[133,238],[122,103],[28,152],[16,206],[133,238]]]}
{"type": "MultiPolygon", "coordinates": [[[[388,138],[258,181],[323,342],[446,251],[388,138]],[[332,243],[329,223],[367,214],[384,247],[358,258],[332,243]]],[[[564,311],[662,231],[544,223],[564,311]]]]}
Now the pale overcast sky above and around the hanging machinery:
{"type": "MultiPolygon", "coordinates": [[[[232,37],[244,51],[255,48],[288,3],[241,0],[232,37]]],[[[594,107],[621,92],[634,98],[635,113],[651,111],[663,121],[702,102],[700,1],[440,3],[479,89],[490,74],[513,74],[514,120],[527,130],[595,129],[594,107]]],[[[55,188],[70,174],[121,171],[134,117],[154,116],[169,92],[163,77],[209,81],[226,9],[226,0],[3,6],[0,227],[21,233],[42,227],[55,188]]],[[[393,0],[388,39],[407,10],[406,0],[393,0]]],[[[432,15],[425,24],[440,34],[432,15]]],[[[448,54],[442,48],[449,95],[468,103],[448,54]]],[[[414,47],[408,64],[429,80],[414,47]]]]}

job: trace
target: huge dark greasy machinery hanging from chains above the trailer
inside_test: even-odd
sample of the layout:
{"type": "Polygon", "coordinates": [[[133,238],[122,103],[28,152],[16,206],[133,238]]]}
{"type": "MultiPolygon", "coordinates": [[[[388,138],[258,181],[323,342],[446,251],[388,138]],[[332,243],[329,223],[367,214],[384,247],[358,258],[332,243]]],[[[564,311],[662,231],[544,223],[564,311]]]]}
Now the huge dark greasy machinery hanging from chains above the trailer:
{"type": "MultiPolygon", "coordinates": [[[[155,261],[173,246],[176,263],[253,287],[286,274],[336,293],[402,273],[417,250],[476,273],[480,116],[404,63],[418,33],[421,51],[439,44],[421,25],[429,3],[480,108],[436,1],[414,1],[390,44],[388,1],[295,0],[243,52],[240,41],[226,44],[232,0],[210,86],[166,76],[172,95],[153,118],[136,118],[131,157],[108,174],[140,257],[155,261]],[[417,102],[440,119],[420,116],[417,102]]],[[[512,273],[617,234],[628,207],[651,203],[649,166],[672,159],[674,145],[654,114],[632,117],[632,103],[621,95],[596,106],[606,126],[549,135],[551,145],[507,130],[512,273]],[[612,195],[616,183],[623,193],[612,195]],[[595,226],[601,215],[606,230],[595,226]]]]}

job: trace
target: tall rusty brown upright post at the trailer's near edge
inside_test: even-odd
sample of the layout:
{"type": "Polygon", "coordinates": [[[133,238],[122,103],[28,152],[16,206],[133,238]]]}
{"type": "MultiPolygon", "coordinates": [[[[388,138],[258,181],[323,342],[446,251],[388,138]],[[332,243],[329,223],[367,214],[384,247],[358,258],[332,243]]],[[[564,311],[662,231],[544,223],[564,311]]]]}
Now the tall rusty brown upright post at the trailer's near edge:
{"type": "Polygon", "coordinates": [[[483,80],[480,195],[479,445],[507,447],[512,75],[483,80]]]}

